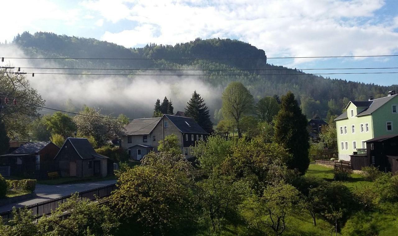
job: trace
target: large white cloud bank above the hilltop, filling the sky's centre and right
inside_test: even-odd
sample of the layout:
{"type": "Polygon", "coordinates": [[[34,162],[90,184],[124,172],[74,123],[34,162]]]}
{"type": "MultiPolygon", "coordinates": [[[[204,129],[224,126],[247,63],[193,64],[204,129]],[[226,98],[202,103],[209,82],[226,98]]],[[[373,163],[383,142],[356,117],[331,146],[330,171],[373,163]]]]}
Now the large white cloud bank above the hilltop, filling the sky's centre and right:
{"type": "MultiPolygon", "coordinates": [[[[395,21],[369,23],[384,5],[382,0],[222,0],[215,4],[137,0],[130,7],[126,2],[119,4],[123,8],[117,16],[105,9],[103,1],[90,1],[89,6],[96,6],[109,21],[128,19],[138,24],[121,32],[107,31],[101,38],[127,47],[219,36],[250,42],[267,56],[281,56],[281,52],[289,56],[388,54],[398,49],[398,33],[391,23],[395,21]]],[[[303,61],[308,59],[295,63],[303,61]]]]}

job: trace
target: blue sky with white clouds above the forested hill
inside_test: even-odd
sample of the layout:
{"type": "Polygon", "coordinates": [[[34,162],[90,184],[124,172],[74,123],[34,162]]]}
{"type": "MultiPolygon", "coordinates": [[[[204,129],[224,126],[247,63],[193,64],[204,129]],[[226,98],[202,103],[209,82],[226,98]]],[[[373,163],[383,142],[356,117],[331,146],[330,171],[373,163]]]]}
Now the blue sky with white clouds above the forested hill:
{"type": "MultiPolygon", "coordinates": [[[[2,0],[1,6],[0,42],[23,31],[45,31],[126,47],[233,38],[264,50],[267,57],[398,55],[398,0],[2,0]]],[[[267,62],[298,69],[398,67],[398,57],[267,62]]],[[[366,70],[382,71],[398,69],[366,70]]],[[[398,84],[398,74],[330,77],[398,84]]]]}

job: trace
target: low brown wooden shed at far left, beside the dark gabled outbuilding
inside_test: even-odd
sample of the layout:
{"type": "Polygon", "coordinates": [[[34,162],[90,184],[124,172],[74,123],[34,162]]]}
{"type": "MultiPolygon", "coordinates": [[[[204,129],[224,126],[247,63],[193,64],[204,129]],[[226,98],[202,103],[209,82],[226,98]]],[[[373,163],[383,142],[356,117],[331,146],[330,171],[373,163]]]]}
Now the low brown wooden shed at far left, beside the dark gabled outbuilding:
{"type": "Polygon", "coordinates": [[[27,142],[13,152],[0,156],[0,166],[10,166],[12,176],[47,178],[48,172],[58,170],[54,161],[59,147],[52,142],[27,142]]]}

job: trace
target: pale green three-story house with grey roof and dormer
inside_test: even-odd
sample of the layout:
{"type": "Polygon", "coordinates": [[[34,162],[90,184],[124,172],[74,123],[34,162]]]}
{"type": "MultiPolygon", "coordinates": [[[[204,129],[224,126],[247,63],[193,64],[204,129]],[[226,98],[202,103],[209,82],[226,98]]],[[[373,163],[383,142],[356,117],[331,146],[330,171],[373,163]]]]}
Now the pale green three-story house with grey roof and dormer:
{"type": "Polygon", "coordinates": [[[368,101],[350,101],[336,121],[339,159],[349,161],[358,148],[366,148],[366,140],[382,135],[398,134],[398,94],[368,101]]]}

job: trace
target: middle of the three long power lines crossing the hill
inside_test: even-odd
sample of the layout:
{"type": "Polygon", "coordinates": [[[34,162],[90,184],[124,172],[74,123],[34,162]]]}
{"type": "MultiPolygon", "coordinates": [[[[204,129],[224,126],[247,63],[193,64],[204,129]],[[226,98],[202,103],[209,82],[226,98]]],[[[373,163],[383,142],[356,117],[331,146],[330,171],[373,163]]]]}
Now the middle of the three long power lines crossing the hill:
{"type": "Polygon", "coordinates": [[[18,67],[18,68],[21,68],[21,69],[64,69],[64,70],[109,70],[109,71],[287,71],[287,70],[398,69],[398,67],[308,68],[308,69],[111,69],[111,68],[62,68],[62,67],[18,67]]]}

